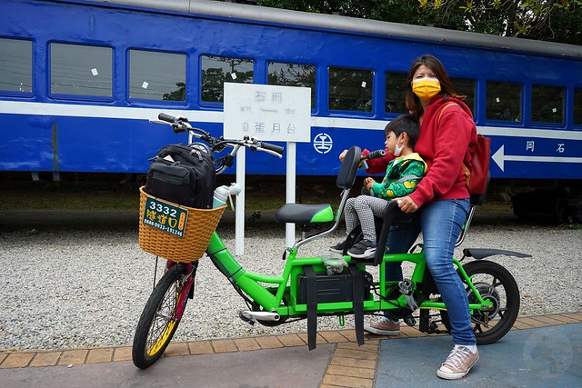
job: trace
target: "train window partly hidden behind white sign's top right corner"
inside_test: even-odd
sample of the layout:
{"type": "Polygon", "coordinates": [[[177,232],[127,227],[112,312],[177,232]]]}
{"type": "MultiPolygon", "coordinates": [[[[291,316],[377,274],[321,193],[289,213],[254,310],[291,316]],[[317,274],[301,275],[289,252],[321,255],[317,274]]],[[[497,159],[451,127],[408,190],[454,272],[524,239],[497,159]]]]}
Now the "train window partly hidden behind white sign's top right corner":
{"type": "Polygon", "coordinates": [[[316,107],[316,66],[269,62],[267,85],[311,88],[311,109],[316,107]]]}

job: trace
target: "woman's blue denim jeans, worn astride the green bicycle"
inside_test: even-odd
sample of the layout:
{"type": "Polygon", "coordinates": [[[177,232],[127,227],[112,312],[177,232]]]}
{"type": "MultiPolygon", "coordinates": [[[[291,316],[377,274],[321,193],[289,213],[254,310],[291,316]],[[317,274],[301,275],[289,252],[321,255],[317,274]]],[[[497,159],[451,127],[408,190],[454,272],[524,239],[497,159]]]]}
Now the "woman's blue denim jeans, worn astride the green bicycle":
{"type": "MultiPolygon", "coordinates": [[[[447,306],[451,334],[457,345],[477,343],[471,327],[467,292],[451,260],[457,237],[467,220],[469,207],[468,199],[457,199],[431,202],[420,209],[420,228],[423,234],[426,265],[447,306]]],[[[414,244],[418,232],[418,226],[415,224],[391,228],[387,243],[390,253],[406,253],[414,244]]],[[[402,279],[400,264],[386,264],[386,279],[402,279]]]]}

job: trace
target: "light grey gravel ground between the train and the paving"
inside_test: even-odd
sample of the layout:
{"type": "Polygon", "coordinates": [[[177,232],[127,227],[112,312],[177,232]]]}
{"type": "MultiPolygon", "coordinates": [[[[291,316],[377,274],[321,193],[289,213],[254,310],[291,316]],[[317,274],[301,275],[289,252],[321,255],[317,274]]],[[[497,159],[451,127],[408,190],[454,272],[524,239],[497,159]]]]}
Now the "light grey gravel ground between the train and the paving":
{"type": "MultiPolygon", "coordinates": [[[[341,228],[341,227],[340,227],[341,228]]],[[[137,232],[66,230],[49,227],[0,234],[0,350],[51,350],[128,345],[152,290],[155,259],[142,252],[137,232]]],[[[234,252],[234,226],[219,233],[234,252]]],[[[248,224],[248,271],[280,274],[283,225],[248,224]]],[[[341,232],[301,248],[325,254],[341,232]]],[[[522,315],[582,311],[582,230],[521,224],[511,215],[479,218],[463,247],[495,247],[533,257],[494,257],[516,277],[522,315]],[[578,299],[579,298],[579,299],[578,299]]],[[[370,271],[376,274],[374,271],[370,271]]],[[[405,270],[406,273],[406,270],[405,270]]],[[[207,258],[202,259],[195,299],[188,303],[175,339],[243,337],[306,332],[306,321],[278,327],[251,326],[237,318],[246,304],[207,258]]],[[[346,327],[353,321],[346,317],[346,327]]],[[[336,317],[318,319],[319,330],[338,329],[336,317]]]]}

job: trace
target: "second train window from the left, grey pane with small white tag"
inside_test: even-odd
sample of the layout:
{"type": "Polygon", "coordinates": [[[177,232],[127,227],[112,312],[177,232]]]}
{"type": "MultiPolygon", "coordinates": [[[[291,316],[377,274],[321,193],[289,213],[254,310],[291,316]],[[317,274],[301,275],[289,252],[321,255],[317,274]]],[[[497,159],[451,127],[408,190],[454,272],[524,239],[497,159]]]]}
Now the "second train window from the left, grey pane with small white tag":
{"type": "Polygon", "coordinates": [[[52,43],[50,58],[51,94],[112,96],[111,47],[52,43]]]}

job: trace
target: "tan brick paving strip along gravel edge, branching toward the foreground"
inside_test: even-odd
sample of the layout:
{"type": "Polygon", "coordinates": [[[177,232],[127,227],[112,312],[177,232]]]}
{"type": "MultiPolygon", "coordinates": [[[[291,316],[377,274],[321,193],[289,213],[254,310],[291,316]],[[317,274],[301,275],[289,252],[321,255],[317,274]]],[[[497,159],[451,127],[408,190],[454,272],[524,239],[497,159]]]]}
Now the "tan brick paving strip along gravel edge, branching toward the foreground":
{"type": "MultiPolygon", "coordinates": [[[[567,323],[582,323],[582,313],[556,313],[519,317],[512,330],[532,329],[567,323]]],[[[354,330],[317,333],[317,343],[335,343],[335,351],[327,365],[322,387],[372,387],[376,377],[376,363],[380,340],[421,337],[416,328],[402,326],[397,337],[366,334],[366,343],[358,346],[354,330]]],[[[165,357],[228,352],[247,352],[305,346],[306,333],[262,335],[259,337],[170,343],[165,357]]],[[[0,369],[38,366],[71,365],[83,363],[111,363],[131,360],[130,346],[68,349],[60,351],[0,351],[0,369]]]]}

